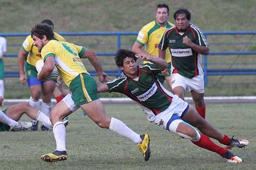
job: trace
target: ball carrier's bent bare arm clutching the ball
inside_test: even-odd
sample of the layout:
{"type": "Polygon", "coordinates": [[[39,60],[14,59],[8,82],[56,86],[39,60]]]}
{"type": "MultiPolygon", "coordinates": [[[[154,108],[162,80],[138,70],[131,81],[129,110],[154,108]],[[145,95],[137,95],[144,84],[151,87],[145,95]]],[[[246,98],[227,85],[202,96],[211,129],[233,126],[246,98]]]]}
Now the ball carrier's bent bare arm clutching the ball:
{"type": "Polygon", "coordinates": [[[45,60],[44,66],[42,66],[41,71],[39,72],[39,75],[37,76],[37,79],[42,81],[49,77],[49,75],[52,73],[52,70],[54,69],[54,57],[49,56],[45,60]]]}

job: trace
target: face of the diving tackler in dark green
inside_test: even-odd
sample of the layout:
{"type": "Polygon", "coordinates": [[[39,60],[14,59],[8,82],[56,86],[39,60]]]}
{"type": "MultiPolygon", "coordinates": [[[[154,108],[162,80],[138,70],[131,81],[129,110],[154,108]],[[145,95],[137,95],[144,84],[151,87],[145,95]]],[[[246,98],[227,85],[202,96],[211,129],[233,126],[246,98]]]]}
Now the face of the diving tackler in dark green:
{"type": "Polygon", "coordinates": [[[133,58],[126,57],[123,59],[123,66],[120,69],[123,70],[126,76],[131,78],[137,77],[137,64],[133,58]]]}

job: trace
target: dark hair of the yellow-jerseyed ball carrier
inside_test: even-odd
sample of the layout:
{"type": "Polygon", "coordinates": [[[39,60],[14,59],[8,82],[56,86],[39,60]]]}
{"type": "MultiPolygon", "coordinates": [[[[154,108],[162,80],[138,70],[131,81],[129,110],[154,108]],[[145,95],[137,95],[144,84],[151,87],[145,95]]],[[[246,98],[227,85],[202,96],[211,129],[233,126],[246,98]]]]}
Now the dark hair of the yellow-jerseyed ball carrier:
{"type": "Polygon", "coordinates": [[[54,34],[52,28],[47,24],[38,24],[35,25],[31,30],[31,37],[35,35],[38,38],[42,39],[42,36],[46,36],[48,40],[54,39],[54,34]]]}

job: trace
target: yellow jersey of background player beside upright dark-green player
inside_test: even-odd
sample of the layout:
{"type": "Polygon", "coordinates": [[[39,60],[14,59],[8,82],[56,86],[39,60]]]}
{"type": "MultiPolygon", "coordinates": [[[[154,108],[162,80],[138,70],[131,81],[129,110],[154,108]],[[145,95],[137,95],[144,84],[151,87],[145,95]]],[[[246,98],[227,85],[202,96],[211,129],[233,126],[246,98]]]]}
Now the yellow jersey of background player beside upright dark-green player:
{"type": "MultiPolygon", "coordinates": [[[[158,56],[158,44],[163,36],[163,33],[173,27],[173,23],[167,22],[166,27],[160,27],[157,21],[152,21],[145,25],[139,32],[136,42],[145,45],[145,53],[158,56]]],[[[166,50],[165,61],[170,62],[170,52],[166,50]]],[[[144,61],[147,63],[148,61],[144,61]]]]}

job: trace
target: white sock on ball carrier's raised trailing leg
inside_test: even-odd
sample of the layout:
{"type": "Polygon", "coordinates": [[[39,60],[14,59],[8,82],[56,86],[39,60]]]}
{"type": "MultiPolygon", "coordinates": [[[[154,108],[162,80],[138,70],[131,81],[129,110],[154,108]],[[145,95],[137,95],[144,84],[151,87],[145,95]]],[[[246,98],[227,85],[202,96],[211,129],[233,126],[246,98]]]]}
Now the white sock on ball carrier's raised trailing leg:
{"type": "Polygon", "coordinates": [[[120,120],[114,117],[111,118],[109,129],[118,133],[119,135],[122,135],[124,137],[131,139],[135,143],[142,142],[142,139],[140,138],[139,134],[135,133],[133,130],[127,127],[123,122],[121,122],[120,120]]]}

